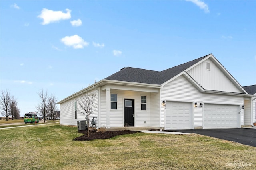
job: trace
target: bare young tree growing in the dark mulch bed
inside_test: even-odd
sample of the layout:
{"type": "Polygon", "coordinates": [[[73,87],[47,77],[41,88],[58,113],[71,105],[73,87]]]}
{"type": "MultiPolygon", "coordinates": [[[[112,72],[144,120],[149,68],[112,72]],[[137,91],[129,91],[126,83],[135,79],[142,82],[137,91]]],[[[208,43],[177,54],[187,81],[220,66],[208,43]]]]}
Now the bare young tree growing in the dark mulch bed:
{"type": "Polygon", "coordinates": [[[78,103],[79,111],[83,113],[86,116],[87,119],[87,127],[88,127],[88,133],[87,136],[89,137],[89,115],[94,112],[97,109],[97,106],[95,106],[95,97],[96,93],[87,93],[87,92],[81,92],[79,97],[76,98],[76,102],[78,103]]]}

